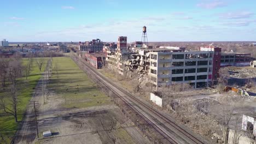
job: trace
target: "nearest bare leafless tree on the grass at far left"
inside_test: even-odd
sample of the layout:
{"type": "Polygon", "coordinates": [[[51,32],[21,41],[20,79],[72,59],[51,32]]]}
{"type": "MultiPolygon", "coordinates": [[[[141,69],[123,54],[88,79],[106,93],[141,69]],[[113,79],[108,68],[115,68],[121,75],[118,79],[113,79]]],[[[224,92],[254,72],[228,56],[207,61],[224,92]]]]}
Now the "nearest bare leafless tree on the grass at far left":
{"type": "Polygon", "coordinates": [[[10,100],[9,103],[6,99],[2,98],[0,101],[0,107],[5,112],[15,118],[15,122],[18,122],[17,118],[17,105],[18,105],[18,94],[17,94],[17,79],[21,76],[21,62],[10,61],[8,68],[8,78],[10,82],[10,100]],[[9,108],[11,105],[11,108],[9,108]]]}

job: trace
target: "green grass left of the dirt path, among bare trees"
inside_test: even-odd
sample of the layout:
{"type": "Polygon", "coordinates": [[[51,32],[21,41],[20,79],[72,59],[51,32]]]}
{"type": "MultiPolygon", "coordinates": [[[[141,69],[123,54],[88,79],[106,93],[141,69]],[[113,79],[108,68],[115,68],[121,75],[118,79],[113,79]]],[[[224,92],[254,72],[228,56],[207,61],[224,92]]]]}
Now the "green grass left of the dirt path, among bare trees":
{"type": "MultiPolygon", "coordinates": [[[[25,65],[28,62],[27,58],[22,58],[22,64],[25,65]]],[[[45,68],[47,62],[47,58],[44,58],[44,65],[42,67],[42,71],[45,68]]],[[[36,58],[34,58],[32,70],[30,76],[23,76],[18,80],[18,121],[22,121],[24,116],[24,112],[26,111],[26,106],[31,99],[33,94],[33,88],[36,87],[38,80],[41,77],[42,71],[39,71],[36,58]]],[[[8,89],[0,92],[0,97],[7,97],[9,95],[8,89]]],[[[7,98],[5,98],[7,99],[7,98]]],[[[6,115],[0,110],[0,135],[4,136],[4,140],[7,143],[10,142],[10,138],[15,134],[15,131],[18,128],[18,123],[15,123],[14,117],[10,115],[6,115]]],[[[4,141],[0,137],[0,143],[4,143],[4,141]]]]}

